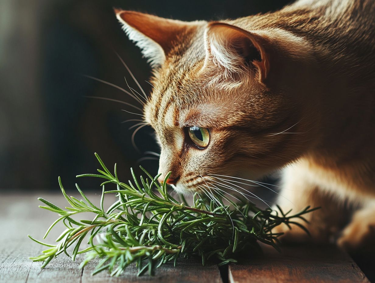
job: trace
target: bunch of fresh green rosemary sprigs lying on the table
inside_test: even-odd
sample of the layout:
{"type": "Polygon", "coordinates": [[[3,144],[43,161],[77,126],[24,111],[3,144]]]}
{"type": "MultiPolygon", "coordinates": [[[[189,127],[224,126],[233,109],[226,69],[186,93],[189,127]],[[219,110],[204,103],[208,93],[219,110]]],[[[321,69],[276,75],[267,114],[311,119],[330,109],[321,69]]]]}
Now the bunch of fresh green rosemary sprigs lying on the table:
{"type": "Polygon", "coordinates": [[[42,268],[63,253],[72,260],[77,254],[87,254],[81,267],[90,260],[101,258],[93,274],[108,270],[115,276],[131,263],[138,267],[138,275],[145,271],[153,274],[154,268],[170,261],[175,265],[180,257],[200,256],[203,265],[210,258],[219,260],[219,265],[236,263],[241,250],[257,249],[257,241],[278,248],[281,233],[271,232],[277,225],[295,224],[306,230],[293,219],[305,220],[302,215],[314,210],[306,207],[290,215],[290,212],[284,213],[279,208],[278,212],[272,213],[270,209],[262,210],[246,201],[227,206],[217,196],[219,205],[212,200],[199,198],[198,194],[193,196],[193,203],[189,206],[182,195],[181,201],[178,201],[168,193],[166,182],[161,186],[157,183],[159,175],[152,177],[141,167],[147,177],[137,178],[131,170],[133,180],[128,184],[122,183],[118,180],[116,165],[113,176],[98,154],[95,153],[95,156],[102,167],[98,169],[99,174],[77,177],[105,179],[101,185],[99,206],[93,204],[77,184],[83,199],[69,197],[60,177],[58,182],[69,207],[63,209],[39,198],[45,204],[39,207],[59,216],[44,238],[58,222],[62,221],[66,226],[54,245],[40,242],[29,235],[33,241],[48,247],[39,256],[30,257],[33,261],[44,261],[42,268]],[[109,183],[115,184],[117,189],[105,191],[109,183]],[[118,200],[108,209],[103,207],[105,194],[118,196],[118,200]],[[93,218],[80,221],[72,218],[83,212],[92,213],[93,218]],[[85,238],[89,247],[80,249],[85,238]],[[73,249],[68,251],[69,247],[73,249]]]}

